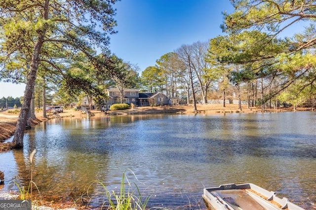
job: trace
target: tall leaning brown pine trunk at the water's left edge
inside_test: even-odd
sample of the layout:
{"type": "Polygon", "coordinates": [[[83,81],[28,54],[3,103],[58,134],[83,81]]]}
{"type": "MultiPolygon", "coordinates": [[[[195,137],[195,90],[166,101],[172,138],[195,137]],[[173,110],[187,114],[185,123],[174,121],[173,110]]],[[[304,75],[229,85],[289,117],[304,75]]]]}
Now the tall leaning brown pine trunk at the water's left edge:
{"type": "MultiPolygon", "coordinates": [[[[44,18],[48,19],[48,5],[49,0],[45,0],[44,2],[44,18]]],[[[27,82],[24,91],[24,100],[22,104],[22,108],[19,114],[18,121],[16,123],[16,130],[14,133],[14,137],[12,140],[12,147],[13,148],[22,148],[23,147],[23,135],[25,126],[28,120],[28,113],[31,105],[31,100],[33,97],[34,86],[35,86],[35,79],[37,70],[40,63],[40,50],[44,42],[44,35],[46,33],[47,24],[44,24],[44,28],[38,31],[38,40],[34,46],[33,54],[32,54],[32,63],[31,63],[31,70],[28,72],[27,75],[27,82]]]]}

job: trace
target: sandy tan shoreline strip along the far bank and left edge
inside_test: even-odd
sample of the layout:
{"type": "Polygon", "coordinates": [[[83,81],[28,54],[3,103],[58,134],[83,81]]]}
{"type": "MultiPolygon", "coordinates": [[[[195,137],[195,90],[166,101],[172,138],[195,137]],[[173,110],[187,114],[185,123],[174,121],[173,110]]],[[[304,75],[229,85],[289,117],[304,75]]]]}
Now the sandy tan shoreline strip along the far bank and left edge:
{"type": "MultiPolygon", "coordinates": [[[[312,110],[312,108],[299,108],[296,111],[312,110]]],[[[242,110],[238,110],[238,105],[228,104],[226,107],[222,107],[221,104],[197,104],[197,112],[193,111],[193,105],[174,105],[174,106],[139,106],[125,110],[108,111],[107,113],[99,110],[92,110],[92,117],[96,114],[102,114],[104,116],[111,115],[130,115],[130,114],[164,114],[164,113],[175,113],[175,114],[226,114],[226,113],[257,113],[257,112],[284,112],[293,111],[293,107],[277,108],[277,109],[266,109],[262,111],[258,107],[247,108],[246,105],[242,105],[242,110]]],[[[57,115],[48,115],[48,118],[41,116],[42,112],[36,113],[36,119],[31,121],[31,125],[36,126],[40,122],[52,119],[52,118],[64,118],[64,117],[86,117],[86,114],[82,111],[76,111],[74,109],[65,109],[64,112],[57,115]]],[[[0,112],[0,152],[10,150],[9,143],[5,143],[14,135],[16,123],[18,120],[18,114],[11,114],[6,111],[0,112]],[[7,145],[4,145],[7,144],[7,145]]]]}

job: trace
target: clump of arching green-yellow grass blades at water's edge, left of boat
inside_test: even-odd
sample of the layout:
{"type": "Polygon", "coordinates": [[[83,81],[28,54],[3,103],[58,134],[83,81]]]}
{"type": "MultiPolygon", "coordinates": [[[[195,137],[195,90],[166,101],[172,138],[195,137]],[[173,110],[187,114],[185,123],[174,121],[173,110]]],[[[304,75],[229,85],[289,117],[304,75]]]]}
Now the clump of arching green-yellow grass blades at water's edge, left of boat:
{"type": "Polygon", "coordinates": [[[124,172],[119,192],[114,190],[110,191],[101,181],[95,180],[89,183],[86,193],[80,197],[81,200],[86,200],[84,197],[87,197],[90,201],[92,200],[93,196],[91,196],[91,194],[94,191],[90,188],[95,184],[100,184],[105,190],[105,201],[101,205],[101,210],[145,210],[150,199],[150,196],[143,199],[136,183],[134,183],[135,189],[132,190],[132,185],[124,172]]]}

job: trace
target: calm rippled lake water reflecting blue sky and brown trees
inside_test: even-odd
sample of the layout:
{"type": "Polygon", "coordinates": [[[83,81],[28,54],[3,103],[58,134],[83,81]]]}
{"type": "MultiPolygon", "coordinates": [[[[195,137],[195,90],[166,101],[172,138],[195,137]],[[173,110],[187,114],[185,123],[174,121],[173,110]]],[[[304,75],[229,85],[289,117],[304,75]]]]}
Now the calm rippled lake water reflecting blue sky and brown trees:
{"type": "MultiPolygon", "coordinates": [[[[126,171],[149,207],[198,209],[204,187],[251,182],[316,208],[316,112],[52,119],[26,132],[23,150],[0,153],[0,193],[28,183],[35,148],[34,182],[48,201],[72,201],[93,180],[118,190],[126,171]]],[[[97,207],[104,189],[91,190],[97,207]]]]}

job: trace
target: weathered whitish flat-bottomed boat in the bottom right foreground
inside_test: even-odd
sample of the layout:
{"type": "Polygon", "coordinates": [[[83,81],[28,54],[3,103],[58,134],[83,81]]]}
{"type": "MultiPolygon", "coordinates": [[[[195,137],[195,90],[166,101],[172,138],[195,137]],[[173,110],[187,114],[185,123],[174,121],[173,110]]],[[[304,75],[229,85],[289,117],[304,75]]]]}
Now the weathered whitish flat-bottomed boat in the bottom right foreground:
{"type": "Polygon", "coordinates": [[[252,183],[204,188],[203,199],[210,210],[304,210],[252,183]]]}

